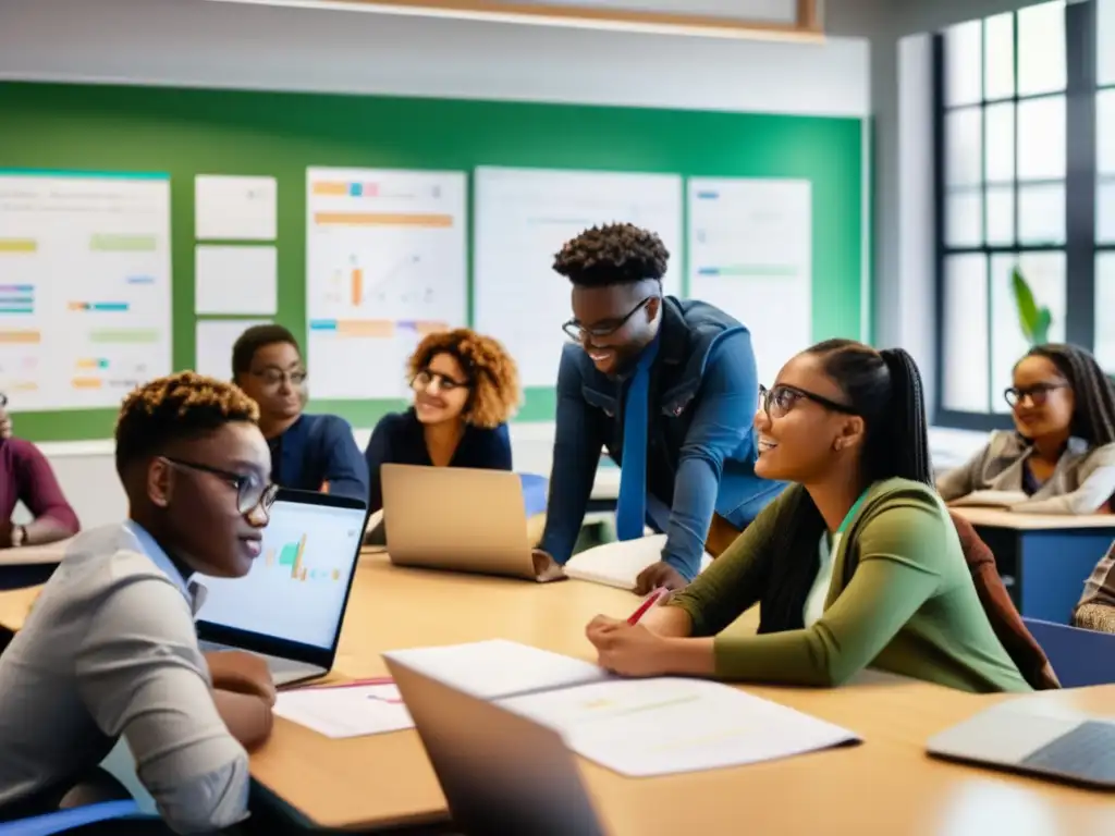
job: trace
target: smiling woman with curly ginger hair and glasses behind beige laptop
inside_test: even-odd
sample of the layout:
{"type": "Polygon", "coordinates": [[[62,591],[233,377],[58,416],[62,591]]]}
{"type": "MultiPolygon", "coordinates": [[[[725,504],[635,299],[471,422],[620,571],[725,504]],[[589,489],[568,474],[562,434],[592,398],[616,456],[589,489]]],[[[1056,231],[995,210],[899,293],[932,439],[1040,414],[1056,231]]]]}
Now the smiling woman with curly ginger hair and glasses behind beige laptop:
{"type": "Polygon", "coordinates": [[[414,406],[384,416],[363,451],[368,508],[384,507],[381,465],[511,470],[507,420],[522,392],[503,346],[467,328],[427,336],[407,362],[414,406]]]}

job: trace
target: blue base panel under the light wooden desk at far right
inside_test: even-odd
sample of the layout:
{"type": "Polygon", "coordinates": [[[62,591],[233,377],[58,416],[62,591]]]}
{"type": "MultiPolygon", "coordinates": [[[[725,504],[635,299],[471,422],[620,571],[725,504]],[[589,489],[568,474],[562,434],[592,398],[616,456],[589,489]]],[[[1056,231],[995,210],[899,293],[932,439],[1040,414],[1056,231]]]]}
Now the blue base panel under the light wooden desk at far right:
{"type": "Polygon", "coordinates": [[[1111,538],[1107,528],[1019,532],[1016,600],[1022,615],[1068,624],[1111,538]]]}

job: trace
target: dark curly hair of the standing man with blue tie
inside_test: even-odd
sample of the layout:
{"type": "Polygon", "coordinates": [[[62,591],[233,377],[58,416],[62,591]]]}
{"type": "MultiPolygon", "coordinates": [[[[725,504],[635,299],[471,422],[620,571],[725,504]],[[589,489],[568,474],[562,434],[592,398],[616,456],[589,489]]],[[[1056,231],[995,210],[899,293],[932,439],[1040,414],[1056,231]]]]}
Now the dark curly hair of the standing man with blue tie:
{"type": "Polygon", "coordinates": [[[662,240],[633,224],[585,230],[554,256],[554,271],[582,288],[661,281],[670,253],[662,240]]]}

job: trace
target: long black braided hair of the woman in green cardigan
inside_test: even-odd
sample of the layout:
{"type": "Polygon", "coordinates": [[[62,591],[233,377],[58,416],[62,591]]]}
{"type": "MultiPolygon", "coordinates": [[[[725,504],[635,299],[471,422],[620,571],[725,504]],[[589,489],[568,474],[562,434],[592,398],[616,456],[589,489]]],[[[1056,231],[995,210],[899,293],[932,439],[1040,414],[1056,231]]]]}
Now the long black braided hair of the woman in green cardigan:
{"type": "MultiPolygon", "coordinates": [[[[929,427],[921,373],[902,349],[876,351],[854,340],[826,340],[806,353],[822,358],[825,373],[843,390],[847,404],[864,419],[862,456],[869,484],[903,478],[933,485],[929,427]]],[[[785,555],[816,554],[825,521],[809,495],[792,486],[775,522],[776,542],[763,555],[767,583],[760,606],[760,633],[804,626],[802,610],[818,564],[785,555]]]]}

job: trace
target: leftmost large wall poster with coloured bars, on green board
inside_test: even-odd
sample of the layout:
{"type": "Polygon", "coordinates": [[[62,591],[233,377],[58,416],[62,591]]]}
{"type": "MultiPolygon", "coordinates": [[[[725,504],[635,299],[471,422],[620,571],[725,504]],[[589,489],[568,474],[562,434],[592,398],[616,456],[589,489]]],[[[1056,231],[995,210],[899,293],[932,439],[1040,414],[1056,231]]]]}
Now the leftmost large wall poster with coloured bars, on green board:
{"type": "Polygon", "coordinates": [[[0,172],[0,391],[116,407],[171,371],[171,181],[0,172]]]}

